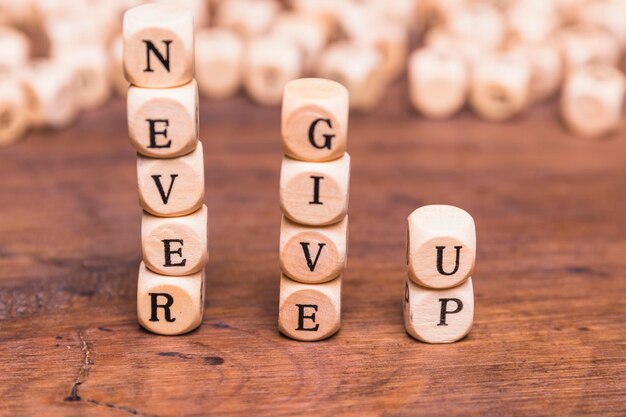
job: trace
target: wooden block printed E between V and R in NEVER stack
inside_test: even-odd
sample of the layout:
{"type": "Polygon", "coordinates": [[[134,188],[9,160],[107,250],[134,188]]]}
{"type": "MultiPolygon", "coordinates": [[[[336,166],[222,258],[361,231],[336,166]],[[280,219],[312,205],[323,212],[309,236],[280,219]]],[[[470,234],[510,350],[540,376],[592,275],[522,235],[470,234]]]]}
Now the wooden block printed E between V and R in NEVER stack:
{"type": "Polygon", "coordinates": [[[209,260],[207,207],[181,217],[156,217],[143,213],[141,248],[150,270],[169,276],[200,271],[209,260]]]}

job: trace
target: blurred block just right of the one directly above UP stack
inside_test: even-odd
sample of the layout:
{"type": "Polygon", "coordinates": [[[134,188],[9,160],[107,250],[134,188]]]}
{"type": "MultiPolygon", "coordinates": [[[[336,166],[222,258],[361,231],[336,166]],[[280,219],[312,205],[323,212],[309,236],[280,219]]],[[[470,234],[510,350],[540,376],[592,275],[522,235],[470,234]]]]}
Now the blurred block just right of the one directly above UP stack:
{"type": "Polygon", "coordinates": [[[474,65],[470,104],[490,121],[509,119],[530,104],[530,67],[519,57],[492,54],[474,65]]]}

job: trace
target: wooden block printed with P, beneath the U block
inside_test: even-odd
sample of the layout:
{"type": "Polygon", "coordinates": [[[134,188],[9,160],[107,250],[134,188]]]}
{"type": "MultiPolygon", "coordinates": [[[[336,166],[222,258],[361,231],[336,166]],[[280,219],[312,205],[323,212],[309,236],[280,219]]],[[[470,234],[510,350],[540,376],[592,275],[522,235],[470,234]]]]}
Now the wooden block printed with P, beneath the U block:
{"type": "Polygon", "coordinates": [[[404,282],[404,327],[426,343],[452,343],[464,338],[474,321],[472,278],[444,290],[404,282]]]}

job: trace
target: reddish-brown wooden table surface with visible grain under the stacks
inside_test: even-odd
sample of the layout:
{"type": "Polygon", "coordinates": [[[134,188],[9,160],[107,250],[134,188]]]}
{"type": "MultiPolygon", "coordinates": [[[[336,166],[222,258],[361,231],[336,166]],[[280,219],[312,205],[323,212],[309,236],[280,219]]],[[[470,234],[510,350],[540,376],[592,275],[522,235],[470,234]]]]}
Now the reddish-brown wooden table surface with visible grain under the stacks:
{"type": "Polygon", "coordinates": [[[396,86],[350,120],[343,323],[277,331],[279,110],[202,102],[205,319],[136,323],[140,215],[124,101],[0,150],[2,416],[624,416],[626,135],[576,140],[553,104],[432,122],[396,86]],[[405,219],[476,220],[476,314],[452,345],[402,322],[405,219]]]}

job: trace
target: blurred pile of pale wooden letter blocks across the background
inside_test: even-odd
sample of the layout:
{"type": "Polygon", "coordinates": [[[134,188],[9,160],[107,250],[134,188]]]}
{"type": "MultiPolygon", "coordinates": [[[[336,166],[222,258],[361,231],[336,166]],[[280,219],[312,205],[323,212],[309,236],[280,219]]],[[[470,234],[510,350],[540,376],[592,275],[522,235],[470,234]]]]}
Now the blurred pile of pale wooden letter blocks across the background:
{"type": "MultiPolygon", "coordinates": [[[[29,127],[61,128],[126,94],[121,15],[142,0],[0,0],[0,144],[29,127]]],[[[408,74],[424,116],[469,105],[490,121],[515,117],[561,91],[561,116],[600,137],[622,120],[623,0],[157,0],[196,22],[202,95],[244,89],[279,105],[302,76],[333,79],[352,109],[381,102],[408,74]],[[409,55],[410,49],[415,49],[409,55]]]]}

